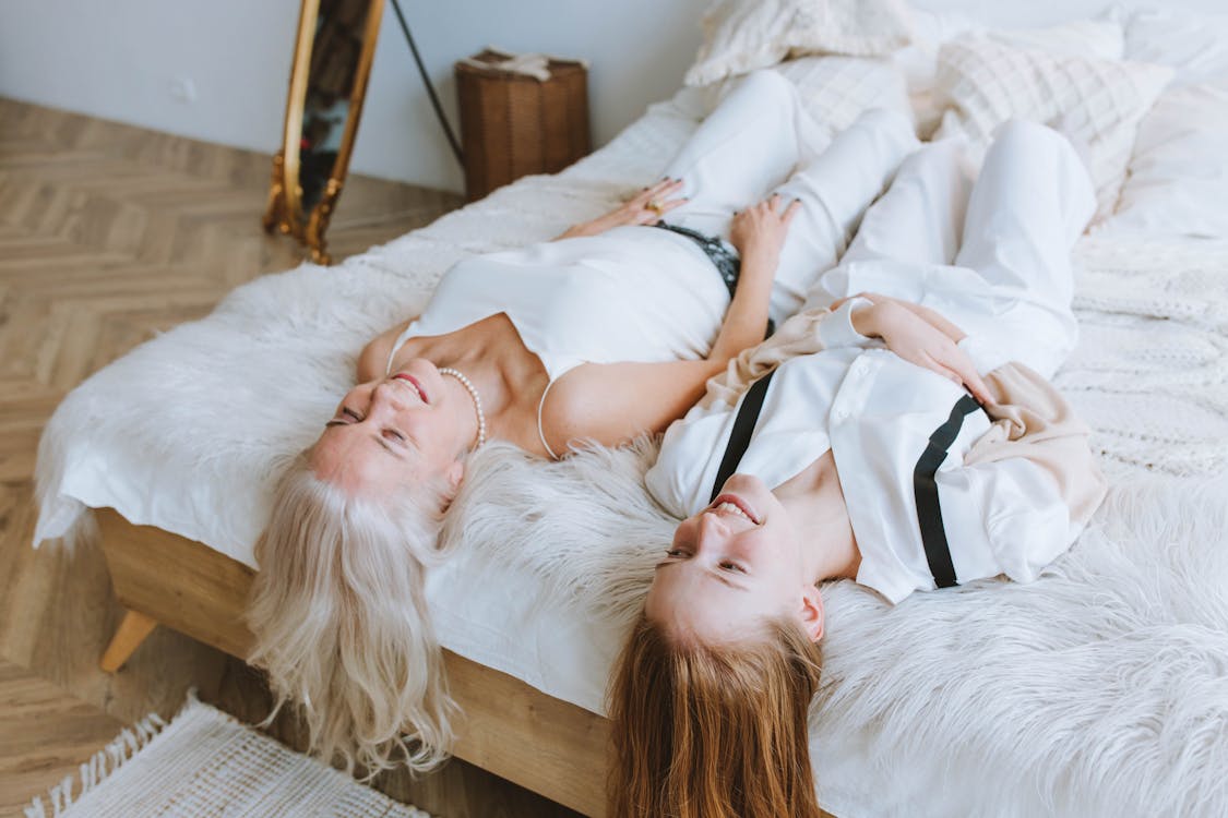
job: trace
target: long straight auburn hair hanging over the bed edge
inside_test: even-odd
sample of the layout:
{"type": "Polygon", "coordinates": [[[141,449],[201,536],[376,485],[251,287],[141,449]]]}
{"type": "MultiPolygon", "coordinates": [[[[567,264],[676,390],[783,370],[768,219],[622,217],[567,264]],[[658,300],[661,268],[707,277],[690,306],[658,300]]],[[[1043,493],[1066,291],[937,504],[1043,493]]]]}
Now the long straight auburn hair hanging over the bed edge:
{"type": "Polygon", "coordinates": [[[822,654],[771,622],[748,643],[675,639],[640,614],[610,686],[610,818],[819,818],[807,713],[822,654]]]}

